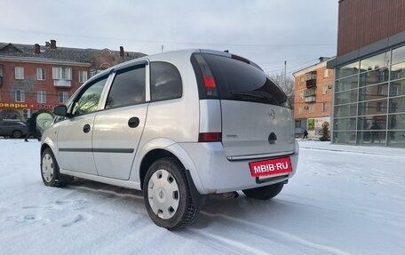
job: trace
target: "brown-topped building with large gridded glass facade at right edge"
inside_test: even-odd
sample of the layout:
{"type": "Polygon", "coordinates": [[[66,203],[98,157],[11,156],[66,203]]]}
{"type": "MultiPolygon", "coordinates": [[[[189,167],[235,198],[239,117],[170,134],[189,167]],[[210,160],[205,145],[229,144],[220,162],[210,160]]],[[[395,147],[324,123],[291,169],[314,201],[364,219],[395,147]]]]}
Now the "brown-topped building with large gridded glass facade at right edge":
{"type": "Polygon", "coordinates": [[[332,142],[405,147],[405,1],[338,3],[332,142]]]}

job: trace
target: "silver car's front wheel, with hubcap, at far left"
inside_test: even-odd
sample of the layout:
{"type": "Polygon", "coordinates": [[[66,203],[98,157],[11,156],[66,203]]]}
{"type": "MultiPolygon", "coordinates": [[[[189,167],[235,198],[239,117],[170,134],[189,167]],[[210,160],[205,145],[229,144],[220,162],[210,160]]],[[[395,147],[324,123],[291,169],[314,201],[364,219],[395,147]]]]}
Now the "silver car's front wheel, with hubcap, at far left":
{"type": "Polygon", "coordinates": [[[60,176],[58,162],[49,147],[45,148],[41,155],[41,177],[46,186],[64,187],[66,185],[60,176]]]}

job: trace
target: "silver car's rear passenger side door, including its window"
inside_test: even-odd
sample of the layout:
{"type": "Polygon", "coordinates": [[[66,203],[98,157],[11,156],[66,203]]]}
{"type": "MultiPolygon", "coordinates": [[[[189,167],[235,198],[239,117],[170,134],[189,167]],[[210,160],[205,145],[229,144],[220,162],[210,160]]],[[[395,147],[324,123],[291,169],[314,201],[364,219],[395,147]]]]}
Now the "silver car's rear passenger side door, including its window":
{"type": "Polygon", "coordinates": [[[129,179],[147,119],[147,63],[114,75],[104,109],[94,119],[92,150],[100,176],[129,179]]]}

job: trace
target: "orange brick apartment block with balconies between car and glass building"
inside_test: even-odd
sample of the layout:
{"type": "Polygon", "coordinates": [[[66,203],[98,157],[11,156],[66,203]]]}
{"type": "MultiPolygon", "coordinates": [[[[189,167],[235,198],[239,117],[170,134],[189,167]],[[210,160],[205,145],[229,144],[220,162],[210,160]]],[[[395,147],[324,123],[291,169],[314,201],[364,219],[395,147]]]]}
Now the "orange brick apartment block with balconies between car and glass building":
{"type": "Polygon", "coordinates": [[[322,124],[330,125],[333,70],[326,68],[327,60],[330,58],[320,58],[319,63],[293,74],[294,118],[298,137],[307,130],[308,138],[319,138],[322,136],[322,124]]]}

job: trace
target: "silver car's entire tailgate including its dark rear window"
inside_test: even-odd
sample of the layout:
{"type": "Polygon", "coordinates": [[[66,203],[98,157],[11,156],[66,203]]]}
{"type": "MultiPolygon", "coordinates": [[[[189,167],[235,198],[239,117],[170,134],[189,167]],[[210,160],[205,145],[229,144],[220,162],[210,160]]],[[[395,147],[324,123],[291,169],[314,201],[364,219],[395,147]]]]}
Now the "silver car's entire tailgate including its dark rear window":
{"type": "Polygon", "coordinates": [[[293,113],[280,87],[249,60],[214,54],[203,57],[218,89],[226,156],[293,153],[293,113]]]}

